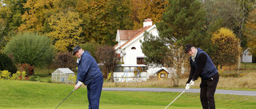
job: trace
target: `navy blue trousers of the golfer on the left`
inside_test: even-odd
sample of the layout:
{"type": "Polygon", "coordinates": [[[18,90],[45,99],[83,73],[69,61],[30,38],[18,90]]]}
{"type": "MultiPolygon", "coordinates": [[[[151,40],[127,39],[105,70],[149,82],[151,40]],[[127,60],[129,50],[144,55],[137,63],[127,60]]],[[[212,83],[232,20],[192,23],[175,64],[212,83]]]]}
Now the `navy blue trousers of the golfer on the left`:
{"type": "Polygon", "coordinates": [[[98,109],[99,99],[102,94],[103,77],[98,77],[87,85],[87,97],[89,101],[89,109],[98,109]]]}

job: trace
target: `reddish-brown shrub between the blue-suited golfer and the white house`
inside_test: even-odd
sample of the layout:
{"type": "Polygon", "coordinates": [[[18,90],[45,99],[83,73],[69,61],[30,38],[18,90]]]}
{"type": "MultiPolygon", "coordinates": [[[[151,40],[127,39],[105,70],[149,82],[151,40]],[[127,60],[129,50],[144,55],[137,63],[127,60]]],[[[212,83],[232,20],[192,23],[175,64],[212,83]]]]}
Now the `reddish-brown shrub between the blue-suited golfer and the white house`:
{"type": "MultiPolygon", "coordinates": [[[[97,49],[96,56],[99,63],[103,64],[104,68],[106,69],[106,72],[102,72],[105,78],[110,72],[114,72],[114,67],[118,64],[118,60],[120,60],[118,54],[115,53],[115,49],[110,45],[100,46],[97,49]]],[[[114,73],[111,73],[112,81],[114,81],[113,74],[114,73]]]]}

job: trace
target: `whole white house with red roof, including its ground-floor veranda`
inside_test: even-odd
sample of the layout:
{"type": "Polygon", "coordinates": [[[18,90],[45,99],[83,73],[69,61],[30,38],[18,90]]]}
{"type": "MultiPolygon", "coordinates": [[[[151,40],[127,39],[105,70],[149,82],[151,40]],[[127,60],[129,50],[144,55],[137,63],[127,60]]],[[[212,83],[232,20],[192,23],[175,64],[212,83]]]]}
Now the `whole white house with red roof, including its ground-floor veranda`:
{"type": "Polygon", "coordinates": [[[147,65],[144,63],[144,53],[142,53],[141,43],[143,41],[144,32],[151,33],[154,36],[158,36],[158,29],[156,25],[152,25],[153,21],[151,18],[145,19],[143,22],[143,28],[138,30],[122,30],[118,29],[115,41],[118,41],[118,45],[114,46],[116,53],[122,57],[121,61],[123,64],[119,65],[115,72],[115,81],[135,81],[134,70],[141,67],[142,81],[149,79],[149,76],[154,76],[154,72],[147,72],[147,65]],[[126,75],[127,74],[127,75],[126,75]],[[129,76],[129,77],[128,77],[129,76]],[[124,80],[125,78],[125,80],[124,80]]]}

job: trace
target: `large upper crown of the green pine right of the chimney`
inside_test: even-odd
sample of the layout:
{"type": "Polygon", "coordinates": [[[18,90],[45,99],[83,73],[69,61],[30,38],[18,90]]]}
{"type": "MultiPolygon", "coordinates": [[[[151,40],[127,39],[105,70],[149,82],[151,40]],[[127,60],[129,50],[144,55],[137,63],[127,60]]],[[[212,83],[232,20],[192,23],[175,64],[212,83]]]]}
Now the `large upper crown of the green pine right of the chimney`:
{"type": "Polygon", "coordinates": [[[178,45],[188,43],[197,47],[202,45],[206,37],[204,24],[206,12],[197,0],[171,0],[162,21],[156,23],[159,37],[166,44],[178,45]]]}

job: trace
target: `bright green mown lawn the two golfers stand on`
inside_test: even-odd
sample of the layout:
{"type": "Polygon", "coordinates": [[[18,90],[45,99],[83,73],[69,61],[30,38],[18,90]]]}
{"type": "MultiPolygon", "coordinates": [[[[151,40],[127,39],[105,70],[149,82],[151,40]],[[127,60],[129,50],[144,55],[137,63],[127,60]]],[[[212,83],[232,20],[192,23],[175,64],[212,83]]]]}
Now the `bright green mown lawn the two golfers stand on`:
{"type": "MultiPolygon", "coordinates": [[[[22,80],[0,80],[1,109],[52,109],[58,106],[74,86],[22,80]]],[[[163,109],[180,92],[102,91],[101,109],[163,109]]],[[[254,109],[256,96],[215,95],[218,109],[254,109]]],[[[79,88],[58,109],[88,108],[86,88],[79,88]]],[[[168,108],[201,109],[198,93],[183,93],[168,108]]]]}

